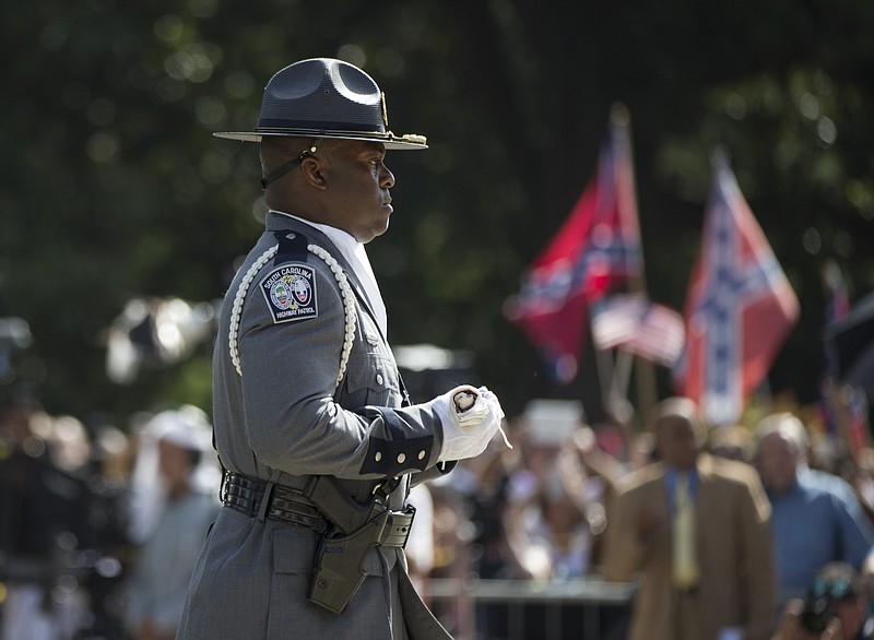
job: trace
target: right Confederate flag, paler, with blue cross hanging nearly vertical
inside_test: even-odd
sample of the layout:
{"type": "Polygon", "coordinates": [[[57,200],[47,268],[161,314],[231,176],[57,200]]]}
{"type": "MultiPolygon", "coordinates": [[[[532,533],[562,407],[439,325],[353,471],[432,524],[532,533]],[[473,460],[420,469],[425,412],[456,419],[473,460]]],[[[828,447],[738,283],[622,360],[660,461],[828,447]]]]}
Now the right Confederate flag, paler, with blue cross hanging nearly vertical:
{"type": "Polygon", "coordinates": [[[799,301],[723,154],[686,297],[680,393],[713,425],[737,420],[799,317],[799,301]]]}

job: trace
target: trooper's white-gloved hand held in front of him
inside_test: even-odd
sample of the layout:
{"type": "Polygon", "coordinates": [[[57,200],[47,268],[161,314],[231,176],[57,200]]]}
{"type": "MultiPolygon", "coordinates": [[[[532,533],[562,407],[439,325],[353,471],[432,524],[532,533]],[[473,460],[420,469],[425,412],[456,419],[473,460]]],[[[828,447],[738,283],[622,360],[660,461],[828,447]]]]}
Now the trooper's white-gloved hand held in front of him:
{"type": "Polygon", "coordinates": [[[500,428],[504,410],[485,387],[456,387],[430,401],[444,428],[444,447],[438,462],[480,455],[500,428]]]}

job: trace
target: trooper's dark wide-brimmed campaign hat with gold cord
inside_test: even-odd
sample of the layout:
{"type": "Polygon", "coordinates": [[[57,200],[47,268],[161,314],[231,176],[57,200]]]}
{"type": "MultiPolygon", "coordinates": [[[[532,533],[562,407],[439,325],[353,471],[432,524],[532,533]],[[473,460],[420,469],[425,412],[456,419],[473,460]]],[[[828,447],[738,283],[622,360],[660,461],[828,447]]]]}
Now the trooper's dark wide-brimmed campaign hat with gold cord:
{"type": "Polygon", "coordinates": [[[388,122],[386,96],[373,78],[342,60],[312,58],[270,79],[255,131],[213,135],[246,142],[272,135],[333,138],[381,142],[386,149],[427,149],[424,135],[395,135],[388,122]]]}

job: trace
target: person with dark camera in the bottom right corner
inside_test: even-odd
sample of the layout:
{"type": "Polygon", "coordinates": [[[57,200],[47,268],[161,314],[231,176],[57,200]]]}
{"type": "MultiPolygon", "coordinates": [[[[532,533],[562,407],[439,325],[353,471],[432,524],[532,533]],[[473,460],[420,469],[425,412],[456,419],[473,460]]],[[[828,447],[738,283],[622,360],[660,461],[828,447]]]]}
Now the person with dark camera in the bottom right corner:
{"type": "Polygon", "coordinates": [[[847,562],[829,562],[819,571],[804,600],[784,608],[773,640],[870,640],[874,617],[862,581],[847,562]]]}

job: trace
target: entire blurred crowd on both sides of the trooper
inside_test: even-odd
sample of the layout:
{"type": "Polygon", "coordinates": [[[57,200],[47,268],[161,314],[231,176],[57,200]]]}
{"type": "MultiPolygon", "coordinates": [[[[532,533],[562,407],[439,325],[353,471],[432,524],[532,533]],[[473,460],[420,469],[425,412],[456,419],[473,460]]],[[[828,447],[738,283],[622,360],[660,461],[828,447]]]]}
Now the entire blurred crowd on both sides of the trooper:
{"type": "MultiPolygon", "coordinates": [[[[507,426],[512,449],[496,438],[410,495],[410,573],[450,631],[513,637],[487,608],[471,630],[472,607],[429,597],[434,579],[475,576],[634,583],[630,616],[602,638],[872,637],[870,451],[788,412],[708,431],[686,399],[659,405],[651,428],[589,425],[579,403],[550,402],[569,428],[525,412],[507,426]],[[677,541],[681,481],[695,515],[677,541]]],[[[0,434],[0,638],[175,638],[220,509],[206,415],[175,407],[90,432],[19,399],[0,434]]]]}

